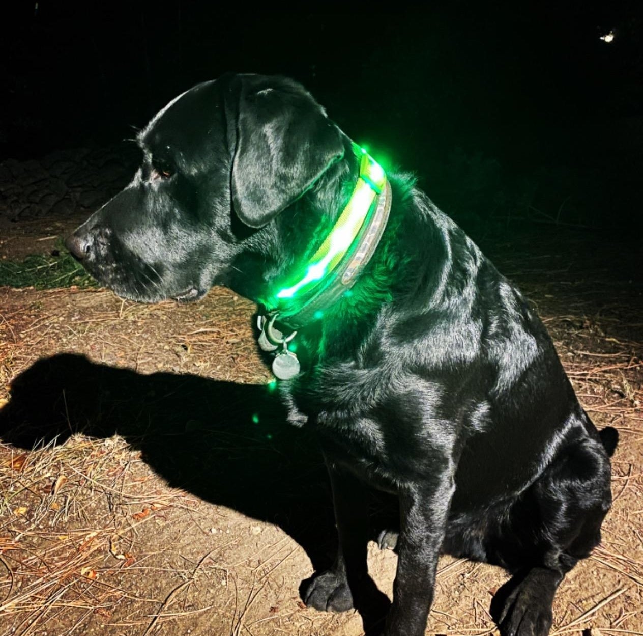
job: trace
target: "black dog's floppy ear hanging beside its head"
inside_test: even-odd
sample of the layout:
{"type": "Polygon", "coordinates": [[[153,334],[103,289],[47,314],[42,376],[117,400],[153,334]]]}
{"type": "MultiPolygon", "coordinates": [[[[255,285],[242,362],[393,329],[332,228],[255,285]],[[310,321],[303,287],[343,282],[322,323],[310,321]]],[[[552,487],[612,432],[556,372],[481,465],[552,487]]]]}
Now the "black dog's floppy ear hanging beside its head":
{"type": "Polygon", "coordinates": [[[232,203],[243,223],[262,227],[340,159],[344,145],[338,127],[296,82],[241,75],[231,84],[237,84],[229,93],[237,98],[232,203]]]}

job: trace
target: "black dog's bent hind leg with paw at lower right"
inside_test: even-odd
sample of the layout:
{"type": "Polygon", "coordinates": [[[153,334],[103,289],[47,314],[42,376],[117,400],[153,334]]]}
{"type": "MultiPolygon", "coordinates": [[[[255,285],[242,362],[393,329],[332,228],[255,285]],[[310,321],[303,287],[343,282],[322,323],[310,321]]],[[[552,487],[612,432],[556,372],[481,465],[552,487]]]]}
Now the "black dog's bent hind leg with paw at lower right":
{"type": "Polygon", "coordinates": [[[601,541],[610,504],[610,462],[592,438],[567,447],[514,504],[505,530],[515,532],[518,543],[503,560],[515,574],[491,604],[503,636],[549,633],[554,594],[566,572],[601,541]],[[524,561],[516,567],[521,550],[524,561]]]}

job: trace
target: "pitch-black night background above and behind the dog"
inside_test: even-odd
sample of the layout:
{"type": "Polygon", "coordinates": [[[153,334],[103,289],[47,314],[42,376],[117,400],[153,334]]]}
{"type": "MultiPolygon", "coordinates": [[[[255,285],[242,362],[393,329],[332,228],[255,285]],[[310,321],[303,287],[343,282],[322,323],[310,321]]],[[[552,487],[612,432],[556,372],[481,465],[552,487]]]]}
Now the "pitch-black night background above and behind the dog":
{"type": "Polygon", "coordinates": [[[640,4],[5,3],[0,161],[125,149],[132,126],[196,82],[280,73],[376,158],[415,171],[474,235],[525,223],[631,233],[643,199],[640,4]]]}

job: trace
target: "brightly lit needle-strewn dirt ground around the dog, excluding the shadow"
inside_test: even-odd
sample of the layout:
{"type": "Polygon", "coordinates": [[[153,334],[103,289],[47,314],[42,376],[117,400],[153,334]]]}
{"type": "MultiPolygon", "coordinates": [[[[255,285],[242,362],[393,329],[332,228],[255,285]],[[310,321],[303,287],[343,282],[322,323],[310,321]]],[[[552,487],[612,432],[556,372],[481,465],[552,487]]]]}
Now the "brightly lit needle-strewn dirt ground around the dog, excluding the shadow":
{"type": "MultiPolygon", "coordinates": [[[[640,307],[613,303],[590,311],[579,293],[561,311],[550,285],[528,293],[538,299],[583,406],[598,426],[620,432],[603,543],[561,586],[552,634],[638,635],[640,307]]],[[[59,351],[140,374],[171,371],[237,384],[270,379],[255,350],[251,304],[225,290],[190,306],[123,303],[104,291],[3,290],[0,306],[0,406],[12,379],[59,351]]],[[[2,445],[0,488],[3,636],[81,634],[90,625],[114,636],[188,629],[233,636],[361,633],[359,617],[329,617],[300,605],[298,581],[311,568],[293,539],[168,486],[122,436],[75,434],[33,450],[2,445]],[[216,531],[226,523],[230,534],[216,531]],[[189,558],[181,536],[172,534],[176,528],[194,548],[189,558]]],[[[390,592],[395,556],[371,549],[370,563],[390,592]]],[[[493,633],[489,601],[502,580],[496,568],[442,559],[428,633],[493,633]]]]}

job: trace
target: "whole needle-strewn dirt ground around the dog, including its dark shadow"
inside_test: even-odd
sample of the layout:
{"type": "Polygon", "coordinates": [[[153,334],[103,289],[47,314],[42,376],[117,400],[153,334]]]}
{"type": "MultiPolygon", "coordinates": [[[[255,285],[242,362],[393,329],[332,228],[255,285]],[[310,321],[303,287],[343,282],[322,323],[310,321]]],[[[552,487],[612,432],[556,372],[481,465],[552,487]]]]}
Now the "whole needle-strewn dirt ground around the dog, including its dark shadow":
{"type": "MultiPolygon", "coordinates": [[[[6,223],[0,258],[76,218],[6,223]]],[[[550,227],[482,247],[547,324],[581,403],[617,427],[601,547],[561,585],[553,634],[643,633],[643,285],[636,241],[550,227]]],[[[334,527],[314,440],[284,424],[253,304],[153,306],[0,287],[0,636],[357,636],[305,608],[334,527]]],[[[373,502],[374,533],[390,501],[373,502]]],[[[397,557],[369,547],[391,594],[397,557]]],[[[494,632],[502,570],[442,557],[428,634],[494,632]]]]}

